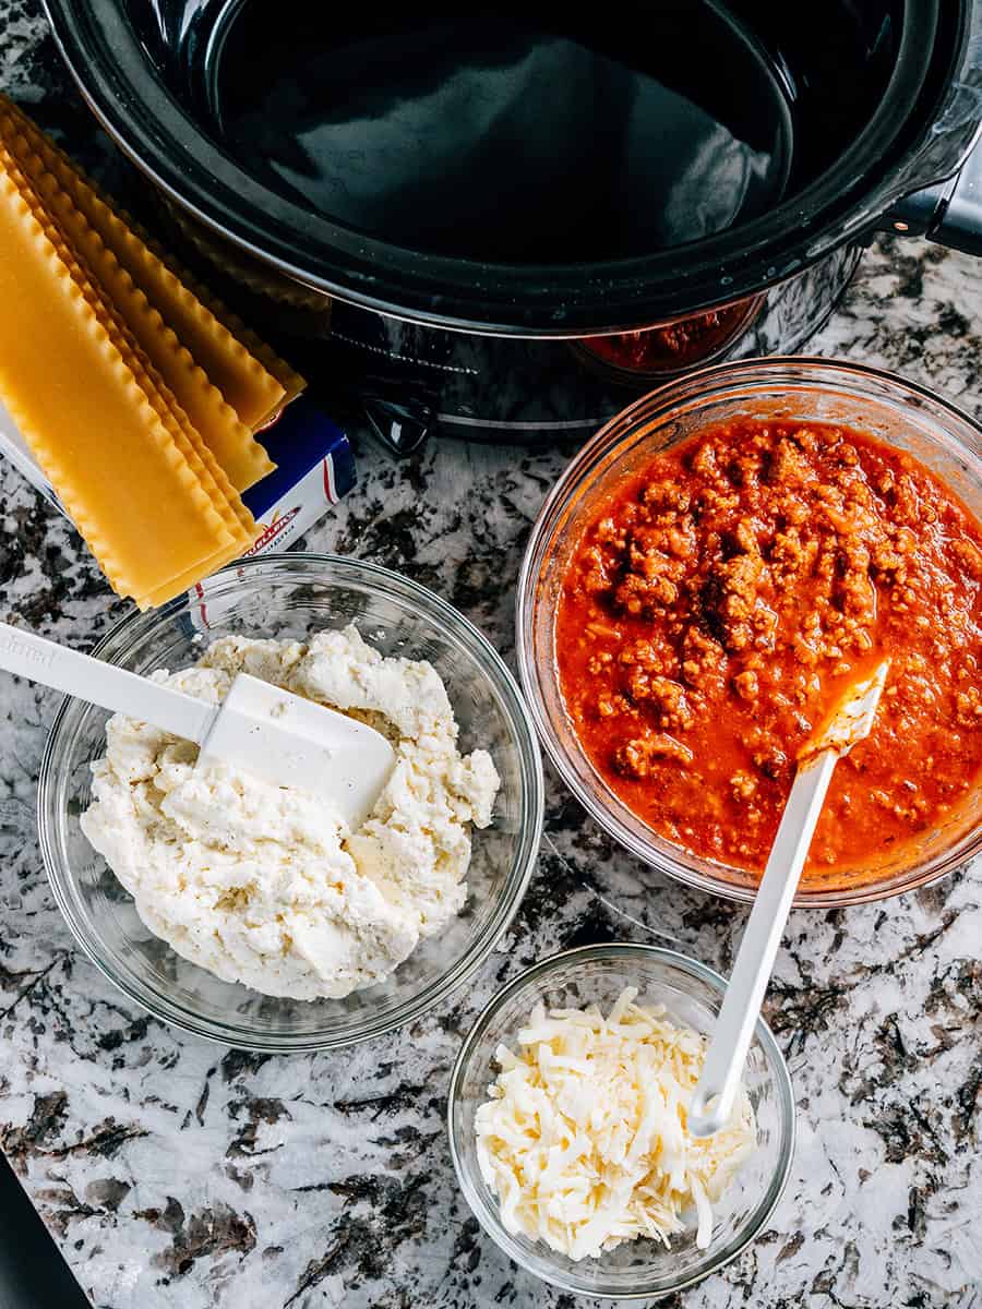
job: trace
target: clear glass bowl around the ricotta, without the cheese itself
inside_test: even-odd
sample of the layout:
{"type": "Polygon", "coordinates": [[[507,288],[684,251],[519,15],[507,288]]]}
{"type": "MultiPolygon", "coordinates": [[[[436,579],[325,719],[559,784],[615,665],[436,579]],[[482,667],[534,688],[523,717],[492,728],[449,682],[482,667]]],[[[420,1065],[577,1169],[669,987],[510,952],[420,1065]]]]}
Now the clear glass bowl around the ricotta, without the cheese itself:
{"type": "Polygon", "coordinates": [[[474,833],[461,915],[444,933],[420,941],[386,982],[344,999],[259,995],[220,980],[153,936],[79,825],[89,801],[89,764],[105,751],[109,715],[68,699],[51,729],[38,783],[38,827],[59,907],[86,954],[131,1000],[200,1037],[250,1050],[323,1050],[410,1022],[479,967],[525,891],[543,805],[534,729],[484,636],[423,586],[376,564],[331,555],[263,555],[221,569],[196,594],[131,614],[94,653],[149,673],[192,664],[217,636],[302,640],[316,628],[350,622],[384,653],[433,664],[446,683],[462,750],[488,749],[501,789],[492,826],[474,833]]]}

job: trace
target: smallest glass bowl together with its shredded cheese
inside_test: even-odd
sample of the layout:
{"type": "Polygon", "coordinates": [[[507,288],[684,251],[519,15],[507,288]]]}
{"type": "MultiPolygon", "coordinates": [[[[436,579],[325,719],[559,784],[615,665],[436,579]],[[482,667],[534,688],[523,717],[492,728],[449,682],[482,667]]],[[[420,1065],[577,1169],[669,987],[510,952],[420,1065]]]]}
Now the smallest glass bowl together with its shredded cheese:
{"type": "Polygon", "coordinates": [[[685,1128],[724,980],[649,945],[534,965],[478,1018],[450,1079],[464,1195],[516,1263],[580,1295],[670,1295],[762,1230],[791,1168],[795,1102],[757,1022],[727,1127],[685,1128]]]}

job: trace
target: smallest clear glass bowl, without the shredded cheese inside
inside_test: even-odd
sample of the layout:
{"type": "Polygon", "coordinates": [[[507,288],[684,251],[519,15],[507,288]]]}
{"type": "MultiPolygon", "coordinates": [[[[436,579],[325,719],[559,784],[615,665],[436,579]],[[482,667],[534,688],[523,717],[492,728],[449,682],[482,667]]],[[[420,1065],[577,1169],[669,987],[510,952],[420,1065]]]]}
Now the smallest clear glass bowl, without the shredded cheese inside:
{"type": "Polygon", "coordinates": [[[554,954],[520,974],[491,1000],[466,1037],[450,1075],[446,1123],[464,1196],[487,1234],[529,1272],[576,1295],[614,1300],[666,1296],[735,1259],[763,1229],[780,1199],[795,1149],[795,1098],[784,1059],[770,1029],[757,1020],[744,1086],[757,1115],[758,1145],[729,1190],[714,1204],[708,1249],[695,1246],[695,1223],[672,1238],[626,1241],[598,1259],[573,1262],[547,1245],[503,1225],[494,1192],[481,1175],[474,1115],[495,1077],[495,1050],[513,1046],[534,1005],[613,1007],[634,986],[638,1003],[664,1004],[668,1016],[708,1035],[727,984],[695,959],[652,945],[587,945],[554,954]]]}

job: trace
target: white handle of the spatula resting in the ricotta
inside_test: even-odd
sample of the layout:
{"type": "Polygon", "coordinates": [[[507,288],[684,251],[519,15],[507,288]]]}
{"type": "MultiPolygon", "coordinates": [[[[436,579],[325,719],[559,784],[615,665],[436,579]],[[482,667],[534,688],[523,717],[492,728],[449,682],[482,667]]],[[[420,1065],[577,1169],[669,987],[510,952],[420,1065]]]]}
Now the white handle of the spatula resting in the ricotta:
{"type": "Polygon", "coordinates": [[[114,713],[153,723],[199,745],[217,713],[213,704],[8,623],[0,623],[0,669],[77,695],[114,713]]]}

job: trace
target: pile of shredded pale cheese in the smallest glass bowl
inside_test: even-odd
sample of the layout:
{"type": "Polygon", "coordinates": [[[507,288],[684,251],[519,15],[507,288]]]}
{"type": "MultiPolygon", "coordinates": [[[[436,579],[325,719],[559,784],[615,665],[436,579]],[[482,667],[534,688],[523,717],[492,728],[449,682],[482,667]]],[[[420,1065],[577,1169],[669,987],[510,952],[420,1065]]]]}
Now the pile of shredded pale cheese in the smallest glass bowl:
{"type": "Polygon", "coordinates": [[[475,1115],[478,1164],[504,1227],[571,1259],[636,1237],[668,1247],[693,1210],[704,1250],[712,1202],[757,1144],[742,1090],[723,1131],[689,1135],[706,1043],[636,996],[622,991],[606,1018],[596,1005],[537,1005],[517,1052],[498,1047],[500,1072],[475,1115]]]}

